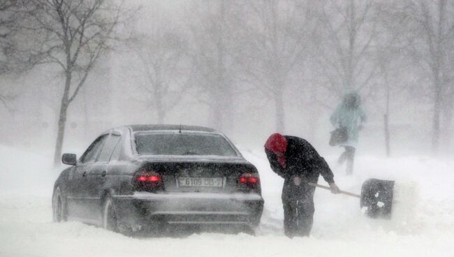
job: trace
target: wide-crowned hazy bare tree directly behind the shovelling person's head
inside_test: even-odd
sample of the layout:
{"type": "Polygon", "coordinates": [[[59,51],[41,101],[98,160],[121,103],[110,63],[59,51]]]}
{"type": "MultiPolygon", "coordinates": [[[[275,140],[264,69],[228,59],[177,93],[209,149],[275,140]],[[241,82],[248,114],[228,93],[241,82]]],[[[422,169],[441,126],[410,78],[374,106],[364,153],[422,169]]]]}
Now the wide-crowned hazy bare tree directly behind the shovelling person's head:
{"type": "Polygon", "coordinates": [[[305,61],[316,22],[309,1],[240,2],[237,65],[244,82],[274,101],[276,129],[285,130],[284,94],[289,76],[305,61]]]}

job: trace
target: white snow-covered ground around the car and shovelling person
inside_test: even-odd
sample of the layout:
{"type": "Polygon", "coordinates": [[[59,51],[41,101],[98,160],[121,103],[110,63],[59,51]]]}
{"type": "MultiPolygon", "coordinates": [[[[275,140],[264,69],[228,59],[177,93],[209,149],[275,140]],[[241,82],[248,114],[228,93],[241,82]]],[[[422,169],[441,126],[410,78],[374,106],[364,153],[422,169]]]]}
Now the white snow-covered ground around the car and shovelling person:
{"type": "MultiPolygon", "coordinates": [[[[359,156],[356,174],[328,156],[341,189],[360,192],[369,177],[397,182],[393,218],[372,220],[359,200],[316,190],[312,235],[283,235],[282,179],[262,149],[242,153],[261,173],[265,210],[256,236],[203,233],[131,238],[77,222],[52,223],[57,171],[47,154],[0,146],[0,256],[454,256],[454,161],[359,156]]],[[[320,179],[321,184],[323,179],[320,179]]]]}

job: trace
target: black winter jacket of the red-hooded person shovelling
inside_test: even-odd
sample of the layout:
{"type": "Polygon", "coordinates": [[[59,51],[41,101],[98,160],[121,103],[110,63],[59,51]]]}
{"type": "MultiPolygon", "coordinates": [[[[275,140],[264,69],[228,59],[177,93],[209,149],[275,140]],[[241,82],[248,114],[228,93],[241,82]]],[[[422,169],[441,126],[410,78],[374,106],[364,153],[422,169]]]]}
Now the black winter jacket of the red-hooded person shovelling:
{"type": "Polygon", "coordinates": [[[334,175],[316,149],[306,140],[291,135],[284,135],[287,140],[285,152],[286,166],[283,168],[277,161],[274,152],[265,149],[265,153],[270,161],[270,166],[277,175],[283,177],[284,188],[282,189],[282,200],[298,200],[304,193],[307,182],[316,183],[318,175],[322,175],[326,182],[334,183],[334,175]],[[302,185],[295,186],[293,177],[299,176],[302,185]]]}

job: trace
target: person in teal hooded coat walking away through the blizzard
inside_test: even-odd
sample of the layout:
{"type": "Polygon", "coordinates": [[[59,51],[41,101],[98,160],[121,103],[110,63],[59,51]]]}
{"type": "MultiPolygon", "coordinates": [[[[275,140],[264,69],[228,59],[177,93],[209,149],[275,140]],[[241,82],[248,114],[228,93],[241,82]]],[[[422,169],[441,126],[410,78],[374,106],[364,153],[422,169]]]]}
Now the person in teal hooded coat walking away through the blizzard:
{"type": "Polygon", "coordinates": [[[332,126],[346,130],[346,141],[340,143],[340,146],[344,147],[345,151],[339,156],[337,162],[342,165],[346,161],[347,175],[353,174],[353,162],[356,146],[358,145],[359,131],[363,129],[363,124],[367,120],[365,112],[360,105],[360,95],[356,92],[350,92],[344,96],[342,103],[337,106],[335,112],[330,116],[332,126]]]}

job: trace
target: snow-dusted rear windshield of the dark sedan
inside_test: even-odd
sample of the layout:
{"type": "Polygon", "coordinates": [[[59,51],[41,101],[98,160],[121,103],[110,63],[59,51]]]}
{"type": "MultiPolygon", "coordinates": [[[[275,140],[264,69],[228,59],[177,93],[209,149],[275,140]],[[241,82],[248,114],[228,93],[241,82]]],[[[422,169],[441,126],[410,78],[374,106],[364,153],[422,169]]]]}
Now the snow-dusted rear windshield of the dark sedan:
{"type": "Polygon", "coordinates": [[[198,133],[136,133],[136,149],[143,155],[237,156],[221,135],[198,133]]]}

